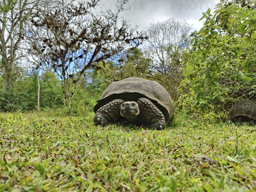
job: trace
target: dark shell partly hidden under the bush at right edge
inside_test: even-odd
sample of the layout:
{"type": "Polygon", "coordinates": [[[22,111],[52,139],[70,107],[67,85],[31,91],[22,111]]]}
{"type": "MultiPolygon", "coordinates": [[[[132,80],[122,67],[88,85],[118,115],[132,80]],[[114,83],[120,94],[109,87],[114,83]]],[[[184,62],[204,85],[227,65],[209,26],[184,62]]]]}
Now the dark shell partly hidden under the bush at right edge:
{"type": "Polygon", "coordinates": [[[256,123],[256,100],[246,99],[233,105],[230,112],[230,119],[234,122],[255,122],[256,123]]]}

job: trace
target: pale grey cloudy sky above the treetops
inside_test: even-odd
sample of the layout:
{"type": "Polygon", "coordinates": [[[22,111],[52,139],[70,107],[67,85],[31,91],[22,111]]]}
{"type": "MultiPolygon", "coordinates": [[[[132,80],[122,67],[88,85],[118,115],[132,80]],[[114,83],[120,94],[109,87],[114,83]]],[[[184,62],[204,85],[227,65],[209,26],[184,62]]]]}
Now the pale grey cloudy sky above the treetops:
{"type": "MultiPolygon", "coordinates": [[[[186,20],[193,25],[193,29],[201,29],[203,20],[202,12],[213,8],[219,0],[129,0],[127,9],[122,13],[126,20],[132,25],[144,29],[150,23],[164,21],[174,17],[177,21],[186,20]]],[[[115,7],[116,0],[103,0],[97,10],[108,10],[115,7]]]]}

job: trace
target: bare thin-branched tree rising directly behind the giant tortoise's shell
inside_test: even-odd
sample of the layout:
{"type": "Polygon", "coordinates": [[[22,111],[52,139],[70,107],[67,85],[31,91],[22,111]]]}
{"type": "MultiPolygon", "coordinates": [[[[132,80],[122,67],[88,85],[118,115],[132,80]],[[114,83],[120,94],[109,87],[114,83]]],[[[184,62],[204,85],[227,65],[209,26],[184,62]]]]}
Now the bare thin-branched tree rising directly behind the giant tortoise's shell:
{"type": "Polygon", "coordinates": [[[148,26],[147,54],[151,58],[149,74],[160,82],[177,99],[177,88],[182,80],[182,66],[186,59],[189,32],[192,27],[186,21],[174,18],[148,26]]]}

